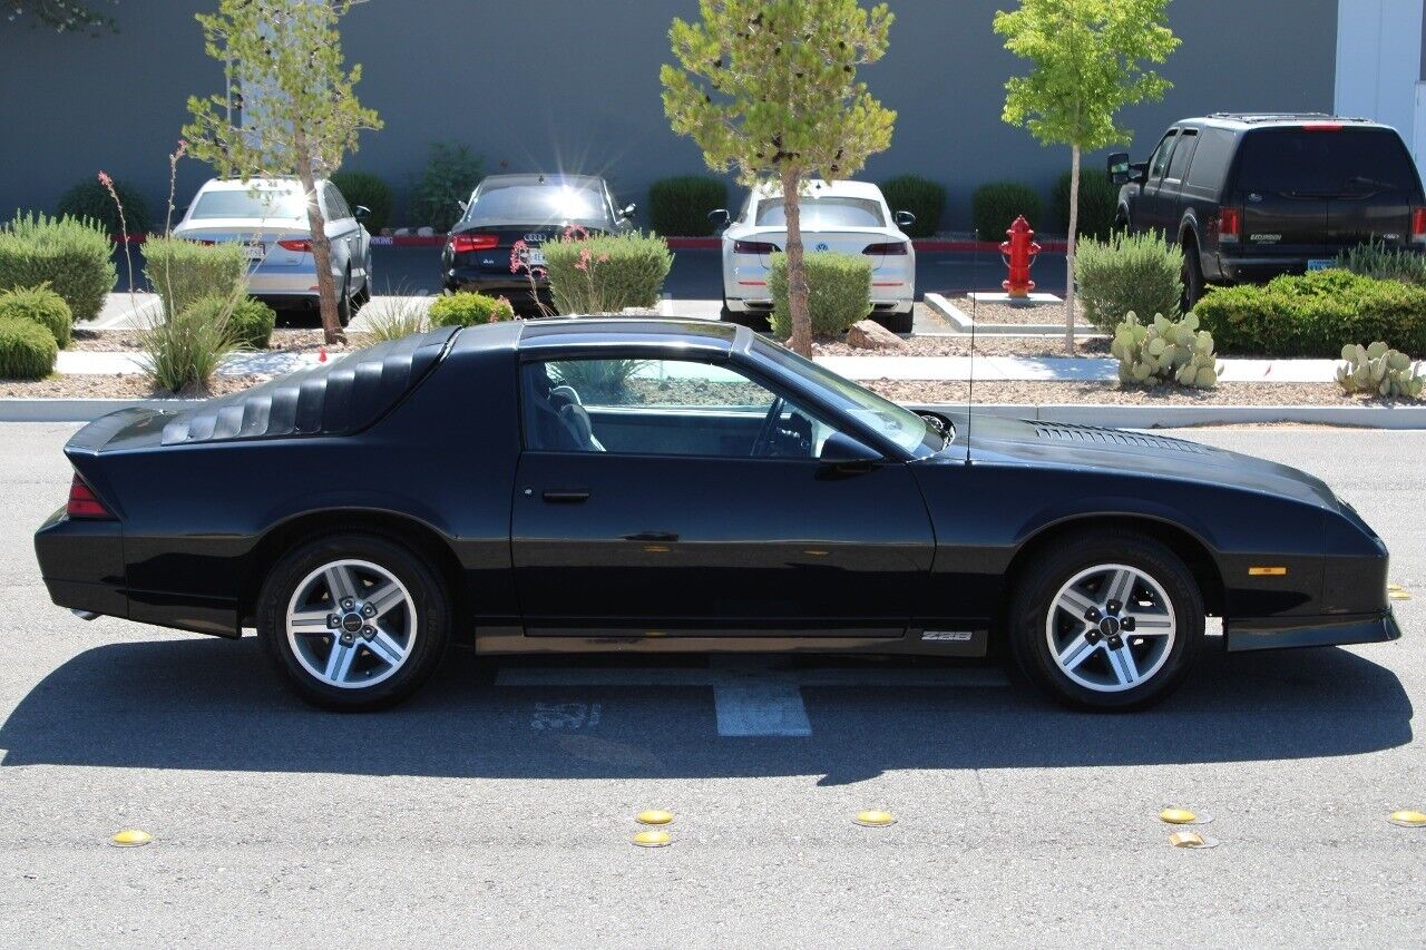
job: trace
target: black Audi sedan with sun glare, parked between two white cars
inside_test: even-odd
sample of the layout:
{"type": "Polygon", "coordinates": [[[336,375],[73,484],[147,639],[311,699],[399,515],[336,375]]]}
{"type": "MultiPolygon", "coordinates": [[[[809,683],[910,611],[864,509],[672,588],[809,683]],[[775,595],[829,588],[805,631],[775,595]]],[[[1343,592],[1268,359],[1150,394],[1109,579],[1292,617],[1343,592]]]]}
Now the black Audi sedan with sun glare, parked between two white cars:
{"type": "Polygon", "coordinates": [[[442,285],[506,297],[522,312],[548,307],[543,244],[566,230],[625,231],[633,213],[632,204],[616,208],[609,184],[593,175],[489,175],[441,251],[442,285]]]}

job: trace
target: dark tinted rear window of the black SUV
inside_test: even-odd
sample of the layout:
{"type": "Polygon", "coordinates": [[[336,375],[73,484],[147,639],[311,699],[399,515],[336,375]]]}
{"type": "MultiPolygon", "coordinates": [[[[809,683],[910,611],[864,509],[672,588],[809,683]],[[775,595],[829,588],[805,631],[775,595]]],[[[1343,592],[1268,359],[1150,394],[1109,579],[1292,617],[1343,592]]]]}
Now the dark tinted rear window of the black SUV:
{"type": "Polygon", "coordinates": [[[1271,194],[1416,191],[1412,157],[1386,128],[1262,128],[1243,137],[1238,187],[1271,194]]]}

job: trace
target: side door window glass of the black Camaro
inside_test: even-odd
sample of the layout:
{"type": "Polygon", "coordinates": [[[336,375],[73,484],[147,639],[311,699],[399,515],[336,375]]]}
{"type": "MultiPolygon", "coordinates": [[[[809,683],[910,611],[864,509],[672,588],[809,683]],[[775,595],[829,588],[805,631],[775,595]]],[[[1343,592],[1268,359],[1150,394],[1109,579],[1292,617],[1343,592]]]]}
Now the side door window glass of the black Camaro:
{"type": "Polygon", "coordinates": [[[834,431],[720,362],[552,359],[520,379],[530,451],[817,458],[834,431]]]}

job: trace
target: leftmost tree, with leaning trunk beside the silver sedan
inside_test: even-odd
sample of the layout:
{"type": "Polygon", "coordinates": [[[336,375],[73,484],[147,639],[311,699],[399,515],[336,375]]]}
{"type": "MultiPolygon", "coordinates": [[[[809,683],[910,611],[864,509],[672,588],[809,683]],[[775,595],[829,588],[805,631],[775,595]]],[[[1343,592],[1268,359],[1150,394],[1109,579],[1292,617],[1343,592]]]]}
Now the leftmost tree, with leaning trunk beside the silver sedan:
{"type": "Polygon", "coordinates": [[[361,66],[347,70],[337,21],[359,0],[220,0],[198,14],[208,56],[228,64],[232,98],[188,97],[188,153],[225,178],[295,175],[307,194],[317,290],[327,342],[344,338],[337,314],[332,247],[317,200],[317,181],[356,150],[356,133],[381,128],[352,87],[361,66]],[[247,96],[241,110],[238,94],[247,96]],[[242,124],[232,120],[242,116],[242,124]]]}

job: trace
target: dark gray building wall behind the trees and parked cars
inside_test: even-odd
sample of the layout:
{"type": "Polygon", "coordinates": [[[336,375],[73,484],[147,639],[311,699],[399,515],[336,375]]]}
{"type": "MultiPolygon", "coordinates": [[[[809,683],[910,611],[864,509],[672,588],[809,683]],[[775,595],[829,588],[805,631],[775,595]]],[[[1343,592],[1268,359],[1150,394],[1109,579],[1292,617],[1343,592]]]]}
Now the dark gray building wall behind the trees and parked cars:
{"type": "MultiPolygon", "coordinates": [[[[53,208],[104,168],[147,191],[161,217],[165,155],[191,93],[217,91],[193,13],[214,0],[123,0],[121,31],[96,39],[0,24],[0,217],[53,208]]],[[[1048,190],[1067,148],[1044,148],[1000,121],[1002,86],[1020,68],[991,33],[1011,0],[893,0],[887,58],[864,70],[896,108],[890,151],[860,177],[935,178],[951,193],[950,227],[967,227],[970,194],[998,178],[1048,190]]],[[[358,93],[386,123],[365,133],[349,168],[405,188],[428,143],[458,140],[491,171],[602,173],[620,197],[645,201],[655,178],[700,171],[693,143],[669,131],[659,64],[669,20],[696,0],[371,0],[348,16],[358,93]]],[[[1332,110],[1338,0],[1178,0],[1184,44],[1164,73],[1164,103],[1128,110],[1142,157],[1176,118],[1218,110],[1332,110]]],[[[207,170],[184,163],[178,204],[207,170]]],[[[398,218],[401,215],[398,214],[398,218]]],[[[943,225],[945,227],[945,225],[943,225]]]]}

